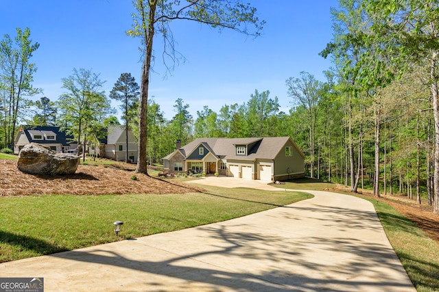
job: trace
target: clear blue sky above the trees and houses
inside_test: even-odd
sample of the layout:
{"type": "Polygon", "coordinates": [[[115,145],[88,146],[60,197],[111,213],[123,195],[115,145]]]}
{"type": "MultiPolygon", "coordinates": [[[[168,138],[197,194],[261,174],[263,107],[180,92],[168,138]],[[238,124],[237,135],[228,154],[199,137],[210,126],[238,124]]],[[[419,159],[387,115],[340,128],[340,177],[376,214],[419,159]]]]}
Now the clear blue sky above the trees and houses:
{"type": "MultiPolygon", "coordinates": [[[[235,31],[175,21],[171,25],[180,60],[165,77],[161,46],[156,40],[156,62],[150,96],[161,105],[165,118],[176,113],[173,105],[182,98],[193,118],[204,105],[219,111],[223,105],[242,104],[254,90],[270,90],[281,110],[288,111],[285,80],[301,71],[324,81],[331,63],[318,55],[332,38],[330,8],[335,0],[248,0],[266,21],[262,36],[249,38],[235,31]]],[[[64,92],[61,79],[73,68],[91,69],[106,81],[108,94],[123,72],[140,83],[140,40],[126,36],[131,28],[129,0],[0,0],[0,33],[16,36],[16,27],[29,27],[40,47],[32,62],[38,67],[34,87],[56,101],[64,92]]],[[[112,105],[117,107],[117,103],[112,105]]]]}

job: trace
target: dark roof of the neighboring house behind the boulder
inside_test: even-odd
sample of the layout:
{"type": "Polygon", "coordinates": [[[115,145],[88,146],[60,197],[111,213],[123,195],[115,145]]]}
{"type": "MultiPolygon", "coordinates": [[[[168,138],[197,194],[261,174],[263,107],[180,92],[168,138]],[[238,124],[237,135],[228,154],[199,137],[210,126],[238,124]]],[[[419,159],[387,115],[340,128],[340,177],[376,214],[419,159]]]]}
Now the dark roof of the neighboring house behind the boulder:
{"type": "Polygon", "coordinates": [[[72,140],[73,137],[67,135],[64,131],[60,131],[60,127],[55,126],[21,126],[21,131],[26,135],[29,143],[36,142],[38,144],[62,144],[62,146],[69,146],[68,140],[72,140]],[[34,140],[33,135],[56,135],[56,140],[34,140]]]}

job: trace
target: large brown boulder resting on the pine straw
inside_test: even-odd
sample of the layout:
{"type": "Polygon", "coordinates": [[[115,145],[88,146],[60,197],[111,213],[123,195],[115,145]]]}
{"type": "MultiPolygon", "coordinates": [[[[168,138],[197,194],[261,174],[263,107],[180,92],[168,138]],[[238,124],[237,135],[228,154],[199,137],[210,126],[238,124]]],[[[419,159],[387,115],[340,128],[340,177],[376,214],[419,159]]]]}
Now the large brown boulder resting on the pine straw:
{"type": "Polygon", "coordinates": [[[77,155],[56,153],[42,144],[31,143],[21,149],[17,167],[30,174],[64,175],[74,174],[79,163],[77,155]]]}

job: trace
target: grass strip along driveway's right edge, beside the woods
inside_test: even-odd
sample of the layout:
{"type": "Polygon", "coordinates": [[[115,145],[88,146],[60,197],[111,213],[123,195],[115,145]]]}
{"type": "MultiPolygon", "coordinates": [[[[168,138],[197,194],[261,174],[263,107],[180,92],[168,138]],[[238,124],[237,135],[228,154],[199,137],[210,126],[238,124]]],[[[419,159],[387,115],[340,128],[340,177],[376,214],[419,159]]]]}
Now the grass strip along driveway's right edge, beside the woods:
{"type": "MultiPolygon", "coordinates": [[[[334,184],[313,178],[302,178],[289,181],[285,185],[274,186],[285,189],[312,190],[329,188],[333,191],[334,184]]],[[[355,196],[351,193],[350,195],[355,196]]],[[[418,292],[439,291],[439,244],[389,204],[373,198],[359,197],[374,204],[390,244],[416,290],[418,292]]]]}

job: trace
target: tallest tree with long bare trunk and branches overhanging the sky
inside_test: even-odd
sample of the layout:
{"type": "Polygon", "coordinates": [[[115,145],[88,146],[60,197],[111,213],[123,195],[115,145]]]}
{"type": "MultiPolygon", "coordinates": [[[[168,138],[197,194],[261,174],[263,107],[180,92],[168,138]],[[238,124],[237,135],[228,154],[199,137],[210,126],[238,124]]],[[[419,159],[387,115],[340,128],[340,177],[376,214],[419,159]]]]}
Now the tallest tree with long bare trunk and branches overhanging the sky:
{"type": "MultiPolygon", "coordinates": [[[[256,8],[239,0],[134,0],[134,24],[128,31],[130,36],[139,36],[143,45],[143,65],[141,75],[141,99],[139,111],[139,156],[136,172],[147,174],[147,98],[150,83],[153,40],[158,32],[163,36],[165,52],[163,56],[174,59],[174,39],[169,23],[177,19],[195,21],[214,28],[228,28],[247,35],[259,35],[263,21],[259,21],[256,8]],[[249,26],[255,31],[249,30],[249,26]],[[169,51],[170,50],[170,51],[169,51]]],[[[175,60],[175,59],[174,59],[175,60]]]]}

